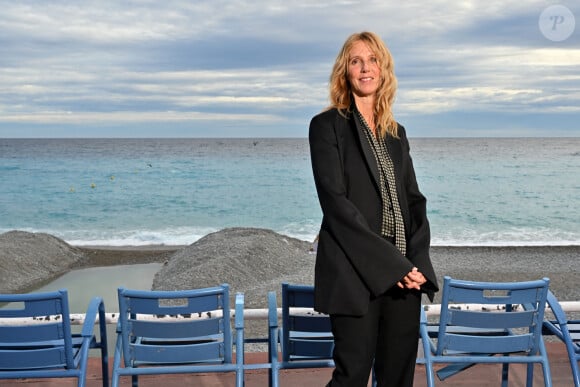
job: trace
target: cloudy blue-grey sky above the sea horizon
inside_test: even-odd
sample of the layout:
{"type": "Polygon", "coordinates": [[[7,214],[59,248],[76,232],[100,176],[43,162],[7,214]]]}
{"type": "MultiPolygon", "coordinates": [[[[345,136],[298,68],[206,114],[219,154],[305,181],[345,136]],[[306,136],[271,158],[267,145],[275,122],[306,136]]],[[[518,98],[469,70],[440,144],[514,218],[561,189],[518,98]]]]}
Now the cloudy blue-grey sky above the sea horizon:
{"type": "Polygon", "coordinates": [[[411,136],[580,136],[578,0],[0,7],[0,137],[305,137],[362,30],[395,58],[411,136]]]}

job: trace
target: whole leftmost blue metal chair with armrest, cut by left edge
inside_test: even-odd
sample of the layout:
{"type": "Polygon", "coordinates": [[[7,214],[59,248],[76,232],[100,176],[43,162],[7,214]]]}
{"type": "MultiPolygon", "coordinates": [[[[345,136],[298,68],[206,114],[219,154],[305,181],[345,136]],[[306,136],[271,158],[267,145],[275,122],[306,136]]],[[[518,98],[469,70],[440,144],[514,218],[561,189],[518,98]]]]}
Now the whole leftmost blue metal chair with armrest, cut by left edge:
{"type": "MultiPolygon", "coordinates": [[[[71,332],[68,293],[1,294],[0,380],[76,378],[86,383],[89,350],[101,351],[103,386],[109,385],[105,306],[95,297],[81,333],[71,332]],[[99,319],[99,339],[94,334],[99,319]],[[11,321],[12,320],[12,321],[11,321]]],[[[2,383],[0,383],[2,384],[2,383]]]]}

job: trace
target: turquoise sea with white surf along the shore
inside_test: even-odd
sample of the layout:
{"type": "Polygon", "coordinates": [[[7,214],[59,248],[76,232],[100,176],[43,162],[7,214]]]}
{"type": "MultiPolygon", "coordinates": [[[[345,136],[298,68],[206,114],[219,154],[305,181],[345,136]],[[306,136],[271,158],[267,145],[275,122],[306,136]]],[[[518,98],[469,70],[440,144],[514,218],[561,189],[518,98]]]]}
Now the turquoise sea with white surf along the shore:
{"type": "MultiPolygon", "coordinates": [[[[580,245],[580,138],[410,138],[434,246],[580,245]]],[[[189,245],[227,227],[311,241],[306,138],[0,139],[0,233],[189,245]]]]}

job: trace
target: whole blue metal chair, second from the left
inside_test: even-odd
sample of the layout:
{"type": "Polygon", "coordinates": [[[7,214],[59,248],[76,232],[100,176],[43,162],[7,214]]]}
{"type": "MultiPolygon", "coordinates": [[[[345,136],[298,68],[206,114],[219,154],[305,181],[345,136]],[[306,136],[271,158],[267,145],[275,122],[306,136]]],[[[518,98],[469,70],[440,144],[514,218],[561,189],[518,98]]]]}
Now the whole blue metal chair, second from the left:
{"type": "Polygon", "coordinates": [[[192,290],[118,289],[113,386],[121,376],[235,372],[244,385],[244,296],[235,299],[236,356],[227,284],[192,290]]]}

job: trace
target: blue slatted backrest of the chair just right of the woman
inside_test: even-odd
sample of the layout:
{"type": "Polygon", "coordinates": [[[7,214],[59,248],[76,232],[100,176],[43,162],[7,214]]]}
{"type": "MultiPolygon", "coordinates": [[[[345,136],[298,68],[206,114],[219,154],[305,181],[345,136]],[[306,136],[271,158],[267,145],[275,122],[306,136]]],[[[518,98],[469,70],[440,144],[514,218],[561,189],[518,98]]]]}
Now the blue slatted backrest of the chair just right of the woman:
{"type": "Polygon", "coordinates": [[[449,351],[476,353],[537,353],[548,293],[547,278],[524,282],[443,280],[443,299],[437,354],[449,351]],[[477,304],[460,308],[455,304],[477,304]],[[482,310],[485,305],[499,310],[482,310]],[[485,331],[490,335],[486,336],[485,331]],[[497,332],[506,332],[498,335],[497,332]]]}

